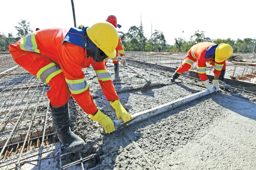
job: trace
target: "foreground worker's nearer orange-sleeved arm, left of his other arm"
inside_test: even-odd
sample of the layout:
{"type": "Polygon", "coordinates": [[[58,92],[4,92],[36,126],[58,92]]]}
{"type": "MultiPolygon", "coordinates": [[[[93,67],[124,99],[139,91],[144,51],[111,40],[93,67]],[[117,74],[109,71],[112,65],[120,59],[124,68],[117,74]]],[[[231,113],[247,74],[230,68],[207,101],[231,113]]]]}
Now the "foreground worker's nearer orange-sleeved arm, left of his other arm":
{"type": "Polygon", "coordinates": [[[59,55],[59,64],[72,96],[87,114],[97,113],[98,109],[89,93],[89,86],[82,71],[84,49],[71,43],[65,43],[59,55]]]}

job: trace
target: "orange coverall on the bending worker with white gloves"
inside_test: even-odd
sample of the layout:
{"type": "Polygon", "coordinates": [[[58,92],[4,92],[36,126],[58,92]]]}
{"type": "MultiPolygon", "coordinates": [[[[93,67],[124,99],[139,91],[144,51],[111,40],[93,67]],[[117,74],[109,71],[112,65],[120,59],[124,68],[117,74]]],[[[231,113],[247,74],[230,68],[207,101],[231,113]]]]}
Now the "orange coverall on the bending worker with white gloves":
{"type": "Polygon", "coordinates": [[[202,42],[198,43],[194,46],[192,46],[189,51],[187,52],[187,56],[184,58],[184,61],[182,65],[176,70],[177,73],[181,74],[183,72],[188,71],[194,62],[197,62],[197,71],[199,74],[199,77],[202,81],[205,81],[208,79],[206,75],[206,62],[214,66],[214,74],[220,75],[221,70],[226,69],[226,62],[210,62],[210,58],[205,58],[206,50],[212,46],[215,45],[214,43],[210,42],[202,42]]]}

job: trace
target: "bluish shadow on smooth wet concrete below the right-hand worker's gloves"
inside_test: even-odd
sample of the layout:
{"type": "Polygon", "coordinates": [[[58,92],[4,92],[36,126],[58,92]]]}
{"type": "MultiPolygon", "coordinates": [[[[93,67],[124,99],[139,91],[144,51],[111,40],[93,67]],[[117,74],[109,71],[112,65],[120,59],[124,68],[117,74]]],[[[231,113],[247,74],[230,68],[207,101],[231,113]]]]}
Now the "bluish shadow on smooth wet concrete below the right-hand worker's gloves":
{"type": "Polygon", "coordinates": [[[215,92],[212,95],[212,100],[218,103],[220,106],[225,107],[237,114],[244,117],[256,120],[256,104],[247,100],[240,98],[239,100],[232,99],[233,96],[215,92]],[[228,99],[228,100],[227,100],[228,99]]]}

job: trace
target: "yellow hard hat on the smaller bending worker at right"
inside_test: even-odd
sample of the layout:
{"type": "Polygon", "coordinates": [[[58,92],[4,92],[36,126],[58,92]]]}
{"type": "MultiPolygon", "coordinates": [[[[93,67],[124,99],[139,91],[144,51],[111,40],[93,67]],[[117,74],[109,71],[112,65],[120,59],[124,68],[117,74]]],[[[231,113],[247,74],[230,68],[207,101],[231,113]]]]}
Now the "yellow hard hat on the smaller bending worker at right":
{"type": "Polygon", "coordinates": [[[233,48],[229,44],[221,43],[215,50],[215,61],[223,62],[233,53],[233,48]]]}

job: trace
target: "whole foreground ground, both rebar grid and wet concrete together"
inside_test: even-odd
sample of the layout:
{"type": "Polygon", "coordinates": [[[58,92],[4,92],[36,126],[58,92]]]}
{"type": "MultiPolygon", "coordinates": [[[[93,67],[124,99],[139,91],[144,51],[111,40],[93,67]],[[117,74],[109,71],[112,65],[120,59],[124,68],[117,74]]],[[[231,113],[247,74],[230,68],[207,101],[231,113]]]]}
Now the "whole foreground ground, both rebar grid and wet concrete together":
{"type": "MultiPolygon", "coordinates": [[[[0,72],[16,66],[10,55],[2,56],[6,57],[0,56],[0,72]]],[[[115,79],[114,65],[111,60],[107,63],[120,102],[131,115],[205,90],[199,79],[181,75],[170,83],[172,73],[127,64],[152,81],[140,91],[144,79],[122,65],[120,79],[115,79]]],[[[92,67],[83,71],[97,107],[117,120],[92,67]]],[[[48,86],[18,66],[0,75],[0,88],[1,147],[8,137],[14,143],[15,139],[24,141],[30,132],[33,138],[43,131],[44,139],[49,134],[48,142],[30,144],[29,149],[25,144],[23,152],[19,150],[23,142],[19,147],[9,146],[1,155],[0,169],[12,169],[17,164],[20,169],[256,169],[255,93],[220,89],[107,135],[71,97],[71,129],[86,144],[79,152],[68,152],[54,137],[48,86]]]]}

